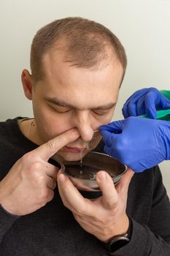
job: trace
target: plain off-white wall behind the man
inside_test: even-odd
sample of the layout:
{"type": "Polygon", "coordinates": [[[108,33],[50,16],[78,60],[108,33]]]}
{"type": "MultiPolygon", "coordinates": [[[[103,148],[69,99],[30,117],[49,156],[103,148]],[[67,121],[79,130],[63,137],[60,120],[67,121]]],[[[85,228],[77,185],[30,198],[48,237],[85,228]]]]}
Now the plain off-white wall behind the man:
{"type": "MultiPolygon", "coordinates": [[[[170,0],[0,0],[0,120],[32,116],[23,97],[20,73],[29,69],[31,40],[40,27],[67,16],[102,23],[123,43],[128,69],[114,119],[134,91],[155,86],[170,90],[170,0]]],[[[161,164],[170,195],[170,163],[161,164]]]]}

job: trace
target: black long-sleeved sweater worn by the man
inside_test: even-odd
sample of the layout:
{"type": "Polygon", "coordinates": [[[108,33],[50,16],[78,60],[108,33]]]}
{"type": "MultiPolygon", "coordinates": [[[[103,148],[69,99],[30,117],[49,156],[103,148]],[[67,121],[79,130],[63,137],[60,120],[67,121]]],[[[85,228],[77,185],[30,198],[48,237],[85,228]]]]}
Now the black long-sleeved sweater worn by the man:
{"type": "MultiPolygon", "coordinates": [[[[12,165],[36,145],[20,132],[15,118],[0,123],[0,148],[2,179],[12,165]]],[[[132,178],[127,214],[132,219],[131,241],[109,253],[101,241],[80,227],[72,212],[63,206],[56,188],[53,200],[32,214],[15,217],[0,208],[0,255],[170,255],[170,203],[158,166],[136,173],[132,178]]]]}

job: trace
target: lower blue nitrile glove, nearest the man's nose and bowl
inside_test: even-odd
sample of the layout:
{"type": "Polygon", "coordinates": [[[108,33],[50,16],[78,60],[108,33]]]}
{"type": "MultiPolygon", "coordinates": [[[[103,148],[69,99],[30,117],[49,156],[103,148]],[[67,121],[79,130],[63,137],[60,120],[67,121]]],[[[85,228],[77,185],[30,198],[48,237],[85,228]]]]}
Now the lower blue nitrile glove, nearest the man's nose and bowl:
{"type": "Polygon", "coordinates": [[[102,125],[104,151],[134,172],[170,159],[170,121],[131,116],[102,125]]]}

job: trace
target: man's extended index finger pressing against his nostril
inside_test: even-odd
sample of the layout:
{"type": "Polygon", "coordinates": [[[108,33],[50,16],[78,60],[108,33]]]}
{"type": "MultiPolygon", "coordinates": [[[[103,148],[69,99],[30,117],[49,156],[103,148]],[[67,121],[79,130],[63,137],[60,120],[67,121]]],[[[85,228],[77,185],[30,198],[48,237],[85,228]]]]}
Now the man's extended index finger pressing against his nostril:
{"type": "Polygon", "coordinates": [[[47,143],[43,144],[42,146],[34,149],[34,154],[47,161],[50,157],[57,153],[59,149],[63,148],[63,146],[66,144],[77,140],[79,137],[80,134],[77,129],[69,129],[52,140],[47,141],[47,143]]]}

